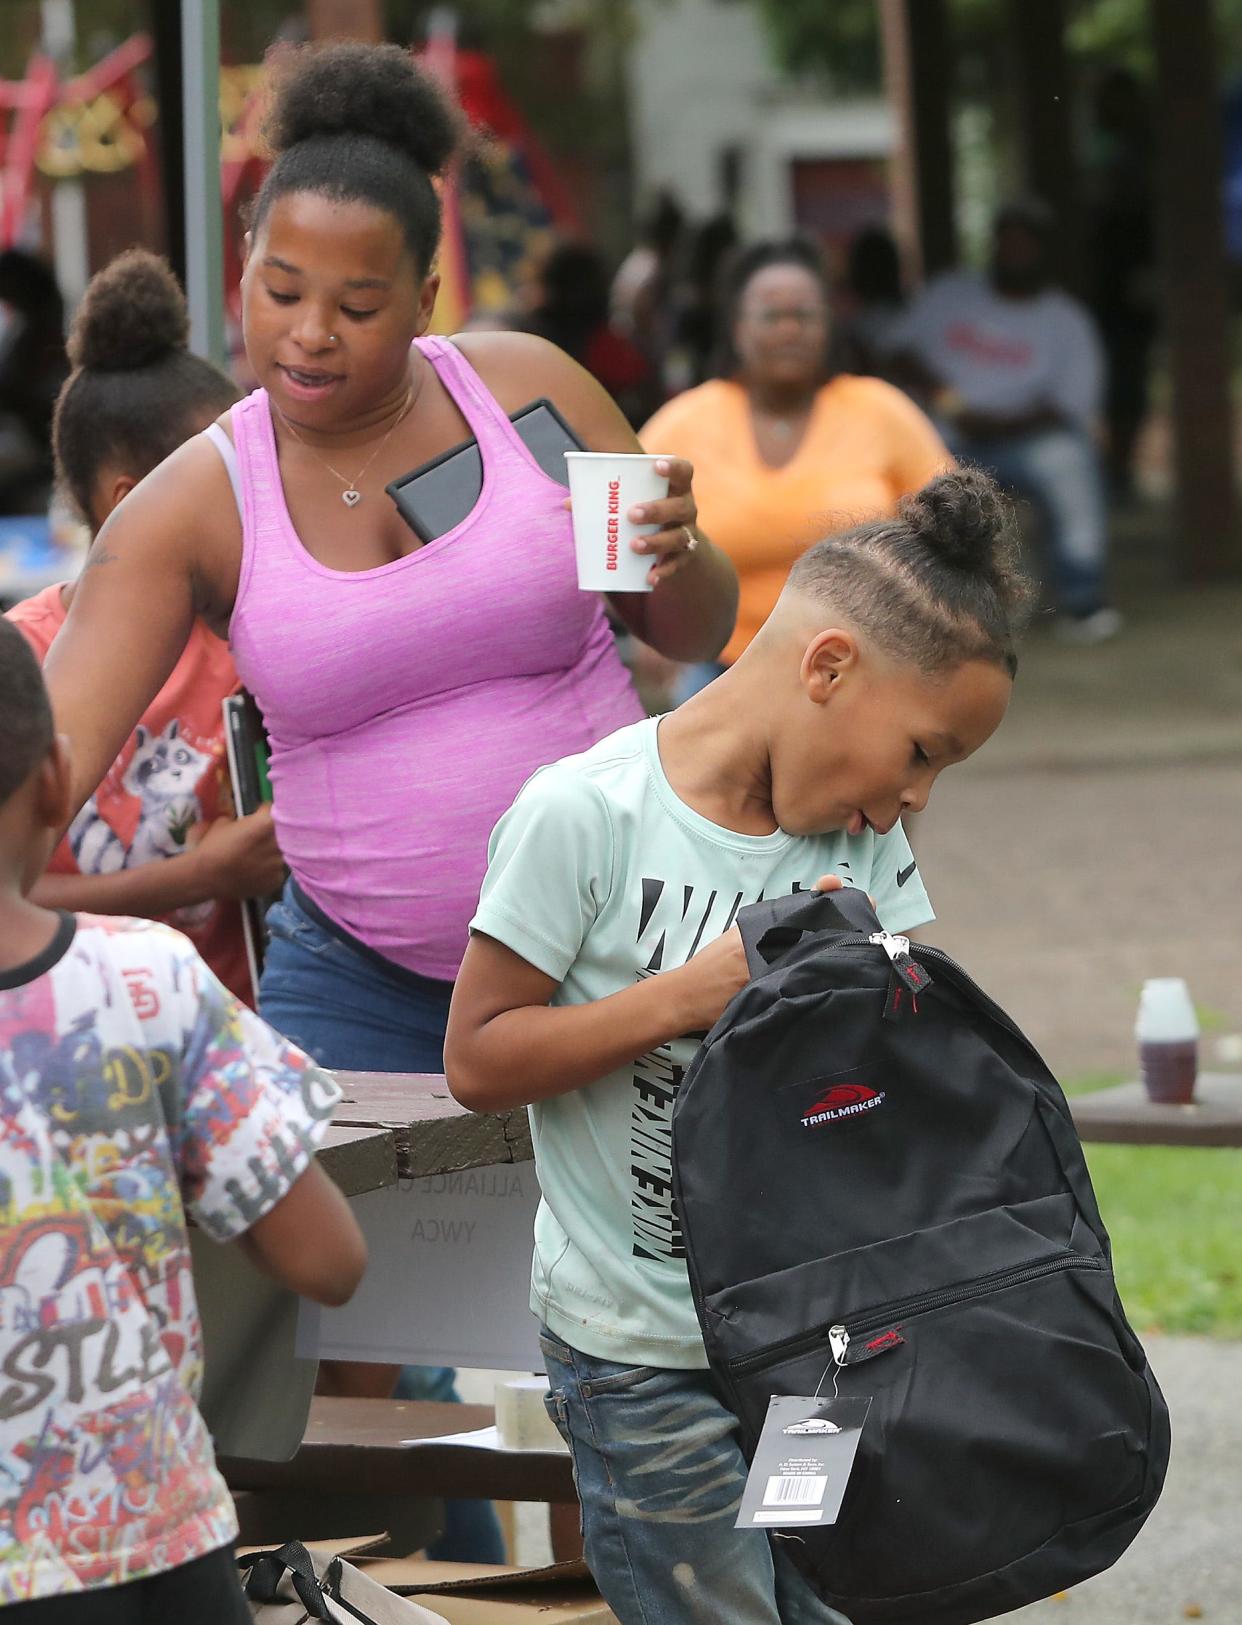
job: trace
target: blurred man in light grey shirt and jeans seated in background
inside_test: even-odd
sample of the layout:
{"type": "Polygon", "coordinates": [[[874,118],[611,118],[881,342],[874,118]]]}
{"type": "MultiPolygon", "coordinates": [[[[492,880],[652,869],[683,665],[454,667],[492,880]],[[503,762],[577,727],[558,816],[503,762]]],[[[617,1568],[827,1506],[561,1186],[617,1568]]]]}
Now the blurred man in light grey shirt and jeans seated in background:
{"type": "Polygon", "coordinates": [[[1094,644],[1122,624],[1104,587],[1107,515],[1094,440],[1104,361],[1086,307],[1052,284],[1052,229],[1042,203],[1000,210],[987,275],[948,271],[928,283],[892,348],[901,380],[923,395],[954,455],[1036,507],[1058,632],[1094,644]]]}

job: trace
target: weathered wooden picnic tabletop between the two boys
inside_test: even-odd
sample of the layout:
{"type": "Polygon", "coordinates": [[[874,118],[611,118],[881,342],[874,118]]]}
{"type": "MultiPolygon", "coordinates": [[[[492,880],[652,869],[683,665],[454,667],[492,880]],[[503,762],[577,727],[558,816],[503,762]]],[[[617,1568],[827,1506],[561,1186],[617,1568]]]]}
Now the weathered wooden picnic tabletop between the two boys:
{"type": "Polygon", "coordinates": [[[501,1162],[530,1162],[523,1107],[476,1115],[458,1107],[439,1072],[337,1072],[337,1107],[319,1159],[346,1196],[398,1180],[501,1162]]]}

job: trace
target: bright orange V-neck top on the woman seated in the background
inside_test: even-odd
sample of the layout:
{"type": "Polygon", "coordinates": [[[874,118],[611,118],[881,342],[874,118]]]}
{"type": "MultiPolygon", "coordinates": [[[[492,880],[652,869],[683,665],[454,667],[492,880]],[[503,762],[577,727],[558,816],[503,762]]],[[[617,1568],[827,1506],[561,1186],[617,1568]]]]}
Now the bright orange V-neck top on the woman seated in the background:
{"type": "Polygon", "coordinates": [[[842,374],[814,398],[801,445],[782,468],[759,457],[746,390],[712,379],[662,406],[647,452],[694,463],[699,522],[738,572],[732,665],[772,613],[793,561],[832,531],[897,510],[897,499],[953,466],[928,419],[879,379],[842,374]]]}

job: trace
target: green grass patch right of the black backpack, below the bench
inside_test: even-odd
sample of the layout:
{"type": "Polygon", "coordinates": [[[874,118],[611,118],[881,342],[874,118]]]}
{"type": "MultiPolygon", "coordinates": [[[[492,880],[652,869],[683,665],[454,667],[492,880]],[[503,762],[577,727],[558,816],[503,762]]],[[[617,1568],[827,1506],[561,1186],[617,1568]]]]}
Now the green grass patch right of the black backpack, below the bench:
{"type": "MultiPolygon", "coordinates": [[[[1091,1074],[1066,1084],[1066,1094],[1120,1081],[1091,1074]]],[[[1083,1149],[1135,1331],[1242,1339],[1242,1152],[1083,1149]]]]}

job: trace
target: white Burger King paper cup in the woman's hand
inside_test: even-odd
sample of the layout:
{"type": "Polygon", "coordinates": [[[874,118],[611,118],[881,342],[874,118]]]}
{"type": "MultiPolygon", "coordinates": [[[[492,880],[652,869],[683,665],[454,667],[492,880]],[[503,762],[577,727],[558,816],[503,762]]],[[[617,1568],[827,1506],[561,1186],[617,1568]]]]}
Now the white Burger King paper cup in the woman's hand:
{"type": "Polygon", "coordinates": [[[657,474],[657,457],[639,452],[566,452],[569,496],[574,502],[577,583],[590,593],[649,593],[650,552],[634,552],[636,536],[658,525],[631,525],[626,514],[637,502],[668,496],[668,474],[657,474]]]}

